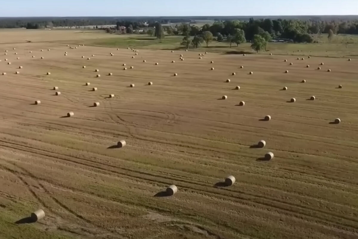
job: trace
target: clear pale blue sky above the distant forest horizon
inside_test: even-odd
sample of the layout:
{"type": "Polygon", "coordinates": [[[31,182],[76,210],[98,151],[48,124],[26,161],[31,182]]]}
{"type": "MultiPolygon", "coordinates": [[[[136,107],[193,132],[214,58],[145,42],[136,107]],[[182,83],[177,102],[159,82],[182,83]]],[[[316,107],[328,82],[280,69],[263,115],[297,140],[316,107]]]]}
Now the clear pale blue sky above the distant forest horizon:
{"type": "Polygon", "coordinates": [[[358,0],[0,0],[0,16],[358,15],[358,0]]]}

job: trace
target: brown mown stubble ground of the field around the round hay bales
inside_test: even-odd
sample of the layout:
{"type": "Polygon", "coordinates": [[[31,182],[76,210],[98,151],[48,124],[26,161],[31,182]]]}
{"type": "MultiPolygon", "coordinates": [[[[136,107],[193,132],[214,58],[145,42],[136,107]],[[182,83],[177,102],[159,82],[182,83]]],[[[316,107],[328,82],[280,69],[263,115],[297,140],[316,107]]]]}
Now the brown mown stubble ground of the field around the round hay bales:
{"type": "Polygon", "coordinates": [[[357,59],[66,45],[0,45],[0,237],[358,236],[357,59]]]}

